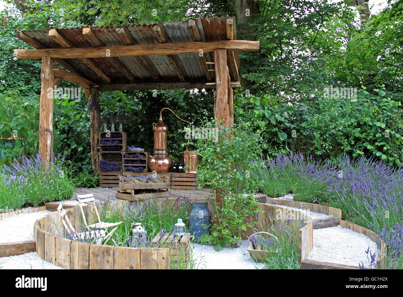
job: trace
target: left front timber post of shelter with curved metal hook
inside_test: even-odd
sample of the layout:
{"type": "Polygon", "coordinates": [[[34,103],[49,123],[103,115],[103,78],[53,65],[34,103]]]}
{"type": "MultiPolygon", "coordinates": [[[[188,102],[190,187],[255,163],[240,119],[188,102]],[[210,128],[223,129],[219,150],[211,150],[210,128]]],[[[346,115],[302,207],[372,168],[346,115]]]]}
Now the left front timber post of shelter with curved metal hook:
{"type": "MultiPolygon", "coordinates": [[[[53,59],[42,57],[41,97],[39,101],[39,154],[46,165],[50,164],[51,134],[45,128],[53,131],[53,59]]],[[[53,156],[52,156],[53,157],[53,156]]]]}

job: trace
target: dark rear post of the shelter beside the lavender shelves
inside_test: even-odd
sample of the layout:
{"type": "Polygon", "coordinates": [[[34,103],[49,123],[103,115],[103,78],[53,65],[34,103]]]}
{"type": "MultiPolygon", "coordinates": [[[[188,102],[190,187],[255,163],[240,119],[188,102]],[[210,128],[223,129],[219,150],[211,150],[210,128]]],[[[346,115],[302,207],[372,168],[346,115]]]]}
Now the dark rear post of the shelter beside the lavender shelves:
{"type": "MultiPolygon", "coordinates": [[[[87,89],[84,89],[84,93],[86,96],[89,95],[87,89]]],[[[91,166],[94,174],[98,173],[100,165],[100,155],[98,153],[98,148],[100,146],[101,108],[98,102],[98,97],[99,97],[98,88],[91,88],[90,95],[89,97],[87,97],[87,99],[88,101],[93,101],[94,103],[96,103],[93,110],[90,111],[91,166]]]]}

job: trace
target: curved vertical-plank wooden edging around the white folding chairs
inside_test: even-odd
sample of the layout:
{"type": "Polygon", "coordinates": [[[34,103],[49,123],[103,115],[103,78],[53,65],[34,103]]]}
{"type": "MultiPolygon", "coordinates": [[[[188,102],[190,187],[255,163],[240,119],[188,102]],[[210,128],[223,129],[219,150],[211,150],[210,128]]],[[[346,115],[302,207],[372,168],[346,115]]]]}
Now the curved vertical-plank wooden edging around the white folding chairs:
{"type": "MultiPolygon", "coordinates": [[[[93,205],[84,206],[88,224],[95,223],[93,205]]],[[[101,208],[98,208],[102,212],[101,208]]],[[[81,227],[79,207],[65,209],[75,228],[81,227]]],[[[70,240],[57,212],[50,213],[34,224],[36,252],[47,262],[66,269],[169,269],[168,248],[130,248],[89,244],[70,240]]]]}

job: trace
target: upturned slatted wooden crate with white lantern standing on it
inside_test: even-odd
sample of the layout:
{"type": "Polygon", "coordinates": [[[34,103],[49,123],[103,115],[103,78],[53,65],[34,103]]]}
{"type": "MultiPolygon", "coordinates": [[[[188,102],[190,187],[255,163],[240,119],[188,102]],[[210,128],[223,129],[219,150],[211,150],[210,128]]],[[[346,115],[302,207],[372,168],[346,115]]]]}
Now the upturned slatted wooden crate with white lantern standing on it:
{"type": "Polygon", "coordinates": [[[176,236],[173,233],[157,234],[152,240],[152,246],[169,247],[169,261],[172,268],[186,268],[190,257],[190,233],[176,236]],[[158,245],[159,244],[159,245],[158,245]]]}

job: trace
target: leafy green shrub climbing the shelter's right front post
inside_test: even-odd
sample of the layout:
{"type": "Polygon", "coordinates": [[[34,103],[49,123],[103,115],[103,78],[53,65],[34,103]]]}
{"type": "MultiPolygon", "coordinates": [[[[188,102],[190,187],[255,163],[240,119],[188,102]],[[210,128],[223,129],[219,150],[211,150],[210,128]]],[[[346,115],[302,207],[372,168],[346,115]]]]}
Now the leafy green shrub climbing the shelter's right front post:
{"type": "MultiPolygon", "coordinates": [[[[206,126],[214,131],[214,123],[206,126]]],[[[200,184],[208,184],[212,194],[218,192],[221,197],[214,203],[217,221],[210,230],[210,241],[220,249],[225,244],[237,246],[241,233],[251,225],[244,222],[245,217],[256,214],[256,199],[247,193],[259,186],[251,178],[251,171],[259,166],[253,159],[261,152],[261,139],[252,131],[250,122],[219,129],[218,139],[217,143],[212,139],[197,139],[195,145],[201,159],[200,184]]]]}

